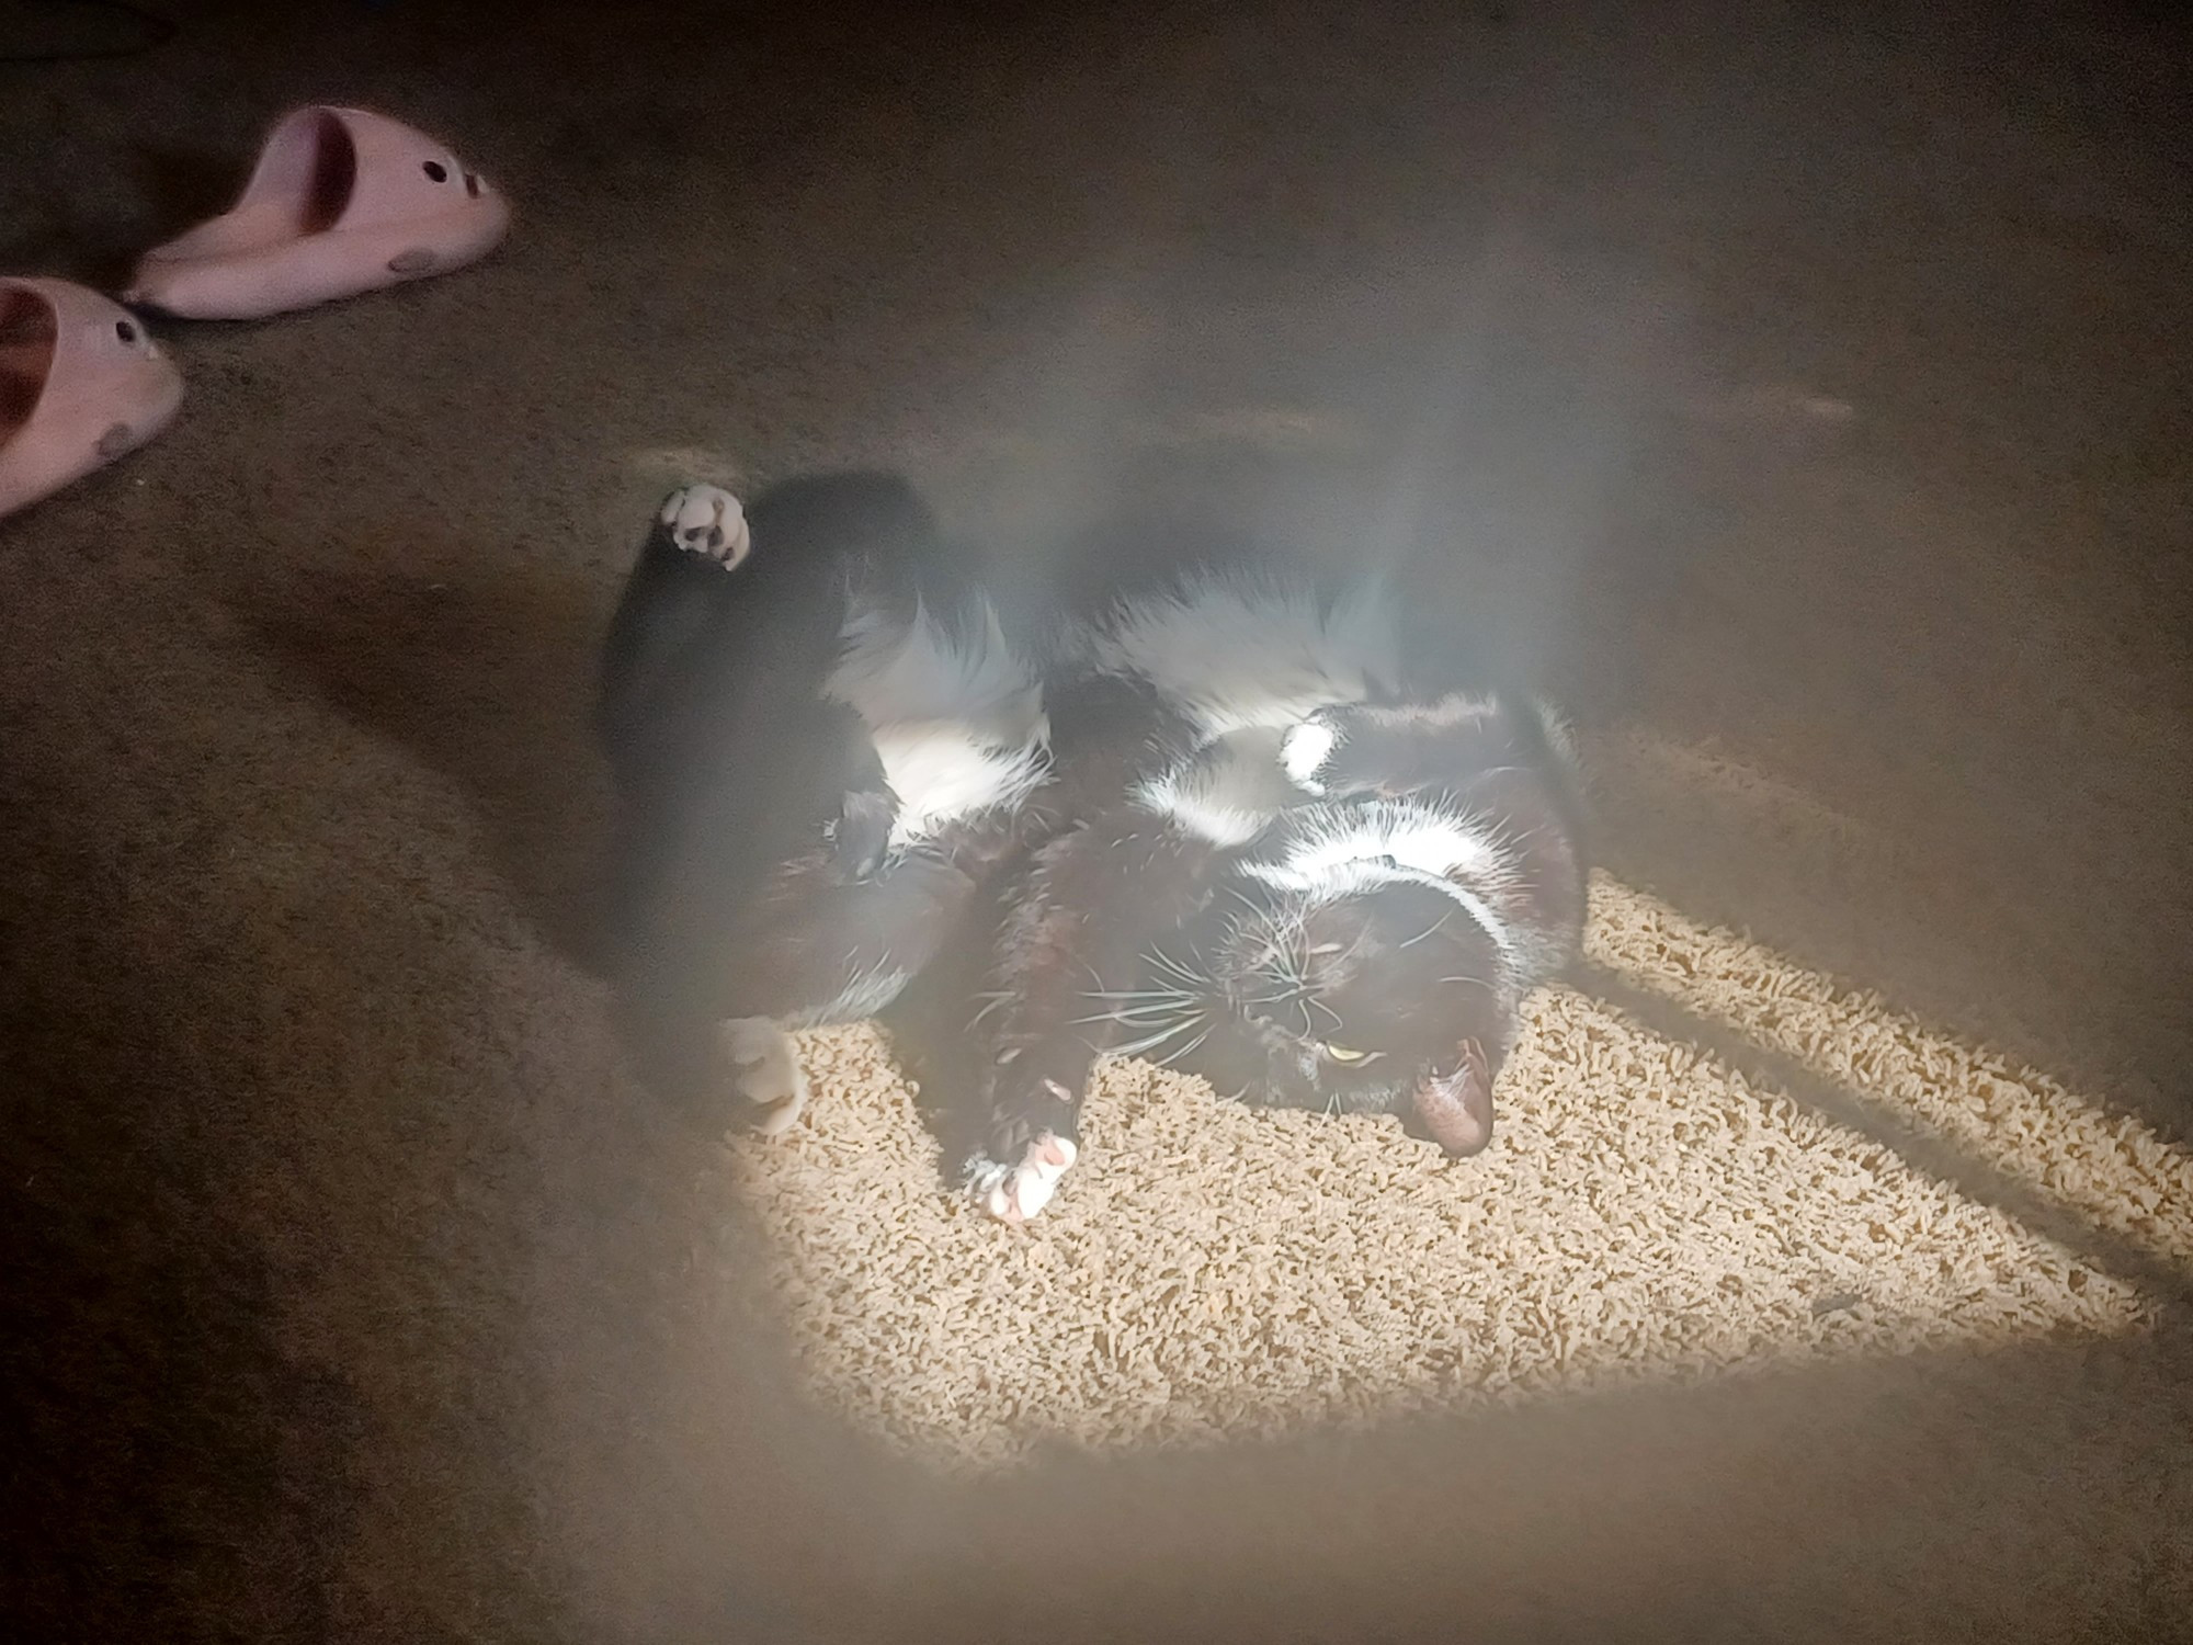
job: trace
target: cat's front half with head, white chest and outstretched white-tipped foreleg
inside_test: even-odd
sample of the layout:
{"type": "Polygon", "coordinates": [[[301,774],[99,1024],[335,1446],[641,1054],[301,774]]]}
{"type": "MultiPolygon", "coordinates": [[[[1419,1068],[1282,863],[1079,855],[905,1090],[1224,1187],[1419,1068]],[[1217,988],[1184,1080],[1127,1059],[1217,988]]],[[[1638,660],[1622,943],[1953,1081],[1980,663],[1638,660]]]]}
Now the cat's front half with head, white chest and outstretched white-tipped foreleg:
{"type": "MultiPolygon", "coordinates": [[[[1101,588],[1101,586],[1099,586],[1101,588]]],[[[965,1187],[1037,1215],[1090,1066],[1491,1141],[1524,996],[1577,950],[1575,763],[1373,577],[1186,564],[1086,597],[1046,680],[1055,783],[976,1035],[965,1187]]]]}

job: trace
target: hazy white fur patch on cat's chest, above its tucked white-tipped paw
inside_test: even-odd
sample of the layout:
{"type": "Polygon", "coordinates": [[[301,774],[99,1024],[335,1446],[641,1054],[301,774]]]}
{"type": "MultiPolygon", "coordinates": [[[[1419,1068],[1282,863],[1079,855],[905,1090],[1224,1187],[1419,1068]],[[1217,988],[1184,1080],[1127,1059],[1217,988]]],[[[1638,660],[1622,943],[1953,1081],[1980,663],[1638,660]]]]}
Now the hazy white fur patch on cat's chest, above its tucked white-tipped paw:
{"type": "Polygon", "coordinates": [[[1331,608],[1303,588],[1219,572],[1132,601],[1088,643],[1107,673],[1149,680],[1202,737],[1294,726],[1390,684],[1399,634],[1377,579],[1331,608]]]}

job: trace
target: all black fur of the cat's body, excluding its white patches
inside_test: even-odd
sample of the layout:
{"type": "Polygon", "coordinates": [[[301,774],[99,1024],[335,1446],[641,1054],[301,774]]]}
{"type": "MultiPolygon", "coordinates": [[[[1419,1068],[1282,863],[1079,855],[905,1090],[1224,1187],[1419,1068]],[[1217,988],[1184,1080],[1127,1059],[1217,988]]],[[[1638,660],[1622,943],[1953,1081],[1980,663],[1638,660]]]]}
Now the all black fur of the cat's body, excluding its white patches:
{"type": "MultiPolygon", "coordinates": [[[[1083,559],[1096,572],[1053,612],[1050,781],[1018,812],[890,851],[901,796],[825,682],[855,601],[971,634],[978,568],[890,476],[781,487],[748,524],[737,570],[658,529],[603,654],[601,730],[627,803],[625,983],[671,1051],[658,1068],[706,1090],[724,1075],[717,1022],[864,1016],[950,954],[925,994],[976,1020],[961,1103],[976,1178],[1046,1136],[1075,1141],[1107,1051],[1180,1062],[1248,1101],[1401,1110],[1450,1152],[1485,1145],[1522,996],[1575,950],[1583,915],[1575,790],[1524,700],[1458,691],[1452,656],[1397,647],[1305,715],[1331,750],[1298,772],[1281,759],[1287,726],[1213,735],[1149,678],[1092,662],[1086,640],[1180,588],[1193,559],[1083,559]],[[1182,772],[1254,825],[1226,842],[1182,827],[1147,787],[1182,772]],[[1498,915],[1478,919],[1487,904],[1439,877],[1316,897],[1285,884],[1305,838],[1379,807],[1467,814],[1509,840],[1498,897],[1480,886],[1498,915]]],[[[1309,588],[1298,568],[1254,566],[1261,586],[1309,588]]],[[[1342,592],[1316,597],[1331,610],[1342,592]]]]}

